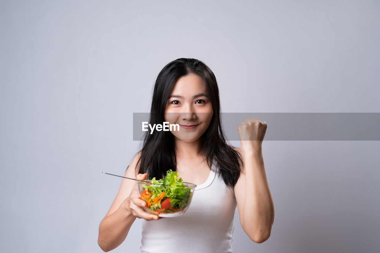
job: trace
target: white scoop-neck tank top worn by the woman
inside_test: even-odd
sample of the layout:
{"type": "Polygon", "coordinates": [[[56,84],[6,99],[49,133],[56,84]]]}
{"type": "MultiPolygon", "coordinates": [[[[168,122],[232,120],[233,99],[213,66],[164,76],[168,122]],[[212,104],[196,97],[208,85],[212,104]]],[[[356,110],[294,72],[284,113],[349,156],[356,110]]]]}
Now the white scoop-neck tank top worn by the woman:
{"type": "Polygon", "coordinates": [[[232,252],[236,199],[213,171],[198,185],[190,207],[179,217],[142,219],[141,253],[232,252]]]}

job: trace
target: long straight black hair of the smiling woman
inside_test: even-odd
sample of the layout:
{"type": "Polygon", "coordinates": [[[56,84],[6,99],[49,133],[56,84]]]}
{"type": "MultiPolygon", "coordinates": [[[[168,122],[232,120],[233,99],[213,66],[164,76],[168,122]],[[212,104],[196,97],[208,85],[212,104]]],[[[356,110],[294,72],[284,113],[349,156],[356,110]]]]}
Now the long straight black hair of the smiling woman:
{"type": "MultiPolygon", "coordinates": [[[[201,136],[201,148],[207,165],[212,168],[216,162],[218,176],[226,185],[234,187],[241,172],[242,158],[238,151],[226,143],[220,119],[219,89],[214,73],[203,62],[196,59],[180,58],[168,63],[158,74],[154,85],[149,124],[162,124],[165,121],[165,108],[176,81],[188,74],[197,74],[207,85],[213,115],[207,130],[201,136]],[[205,141],[207,140],[207,142],[205,141]]],[[[176,171],[174,135],[170,131],[146,132],[137,162],[139,173],[147,173],[147,179],[161,179],[166,171],[176,171]]]]}

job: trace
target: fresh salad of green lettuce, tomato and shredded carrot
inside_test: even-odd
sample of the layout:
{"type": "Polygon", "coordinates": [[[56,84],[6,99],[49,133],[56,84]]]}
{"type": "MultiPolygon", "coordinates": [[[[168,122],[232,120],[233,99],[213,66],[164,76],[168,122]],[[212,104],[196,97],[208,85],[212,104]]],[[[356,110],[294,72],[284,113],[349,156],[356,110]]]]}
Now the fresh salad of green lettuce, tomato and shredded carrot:
{"type": "Polygon", "coordinates": [[[141,199],[153,212],[174,213],[184,209],[188,204],[191,188],[186,187],[178,173],[171,169],[163,179],[154,177],[149,183],[141,184],[141,199]]]}

